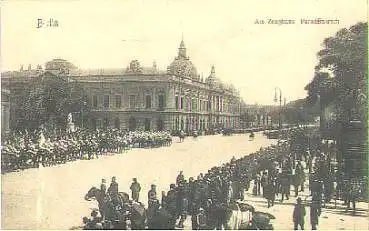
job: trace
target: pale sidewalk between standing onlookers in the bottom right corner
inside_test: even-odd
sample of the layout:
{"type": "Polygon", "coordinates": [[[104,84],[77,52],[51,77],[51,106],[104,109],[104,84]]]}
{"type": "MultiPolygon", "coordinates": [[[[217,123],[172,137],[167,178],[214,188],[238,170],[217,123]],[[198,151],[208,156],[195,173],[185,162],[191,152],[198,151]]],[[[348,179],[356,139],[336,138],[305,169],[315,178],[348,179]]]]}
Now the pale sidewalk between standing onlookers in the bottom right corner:
{"type": "MultiPolygon", "coordinates": [[[[307,179],[308,173],[307,174],[307,179]]],[[[311,230],[310,225],[310,207],[309,203],[309,182],[305,182],[305,192],[299,192],[298,197],[301,197],[306,205],[305,229],[311,230]]],[[[268,203],[262,196],[252,195],[253,182],[251,182],[250,190],[245,193],[245,201],[255,207],[257,211],[268,212],[273,214],[276,219],[272,220],[275,230],[293,230],[292,214],[297,197],[294,197],[294,188],[291,186],[291,195],[289,200],[284,200],[281,203],[281,194],[276,196],[274,206],[268,208],[268,203]]],[[[334,200],[327,203],[322,208],[322,213],[319,218],[318,230],[369,230],[368,219],[368,203],[357,202],[356,214],[352,214],[352,210],[346,211],[346,207],[342,201],[337,201],[336,208],[334,200]]],[[[191,229],[191,217],[188,217],[185,222],[185,229],[191,229]]]]}

